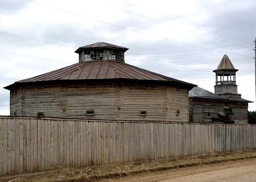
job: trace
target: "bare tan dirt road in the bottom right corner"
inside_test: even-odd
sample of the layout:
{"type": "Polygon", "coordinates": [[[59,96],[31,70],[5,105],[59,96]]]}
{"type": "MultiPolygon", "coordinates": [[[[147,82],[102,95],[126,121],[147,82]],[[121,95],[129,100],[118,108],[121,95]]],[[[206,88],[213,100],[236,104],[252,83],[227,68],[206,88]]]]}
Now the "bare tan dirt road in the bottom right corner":
{"type": "Polygon", "coordinates": [[[256,159],[149,172],[104,181],[256,181],[256,159]]]}

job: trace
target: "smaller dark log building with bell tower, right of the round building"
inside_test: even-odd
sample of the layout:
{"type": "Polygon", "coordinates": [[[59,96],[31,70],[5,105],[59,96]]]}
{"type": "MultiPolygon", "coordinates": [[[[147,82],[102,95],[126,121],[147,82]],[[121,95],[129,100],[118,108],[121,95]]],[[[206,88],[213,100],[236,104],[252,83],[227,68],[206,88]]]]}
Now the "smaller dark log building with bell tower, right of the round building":
{"type": "Polygon", "coordinates": [[[248,123],[249,100],[241,98],[236,84],[236,72],[224,55],[216,73],[215,93],[199,87],[189,91],[190,122],[248,123]]]}

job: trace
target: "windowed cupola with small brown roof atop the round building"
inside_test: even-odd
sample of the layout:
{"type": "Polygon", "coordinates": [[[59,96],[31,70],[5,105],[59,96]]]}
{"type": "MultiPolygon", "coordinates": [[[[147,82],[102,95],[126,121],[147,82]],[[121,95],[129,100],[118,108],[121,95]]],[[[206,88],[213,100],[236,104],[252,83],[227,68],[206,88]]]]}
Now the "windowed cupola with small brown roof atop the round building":
{"type": "Polygon", "coordinates": [[[128,49],[110,43],[97,42],[79,47],[75,53],[79,54],[79,62],[119,61],[124,63],[124,52],[128,49]]]}

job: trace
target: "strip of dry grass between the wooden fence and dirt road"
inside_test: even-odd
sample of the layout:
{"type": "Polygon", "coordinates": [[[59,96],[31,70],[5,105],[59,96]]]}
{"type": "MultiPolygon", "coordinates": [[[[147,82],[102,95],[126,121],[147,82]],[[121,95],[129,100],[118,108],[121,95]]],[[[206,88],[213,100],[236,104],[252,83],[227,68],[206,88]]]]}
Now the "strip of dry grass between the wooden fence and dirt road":
{"type": "MultiPolygon", "coordinates": [[[[55,173],[20,177],[16,181],[95,181],[105,178],[116,178],[137,173],[161,171],[167,169],[222,163],[242,159],[256,158],[256,150],[241,150],[228,153],[207,155],[192,159],[183,157],[173,160],[141,162],[137,164],[119,164],[93,166],[85,168],[68,168],[55,173]]],[[[16,178],[16,177],[13,177],[16,178]]],[[[0,179],[1,180],[1,179],[0,179]]]]}

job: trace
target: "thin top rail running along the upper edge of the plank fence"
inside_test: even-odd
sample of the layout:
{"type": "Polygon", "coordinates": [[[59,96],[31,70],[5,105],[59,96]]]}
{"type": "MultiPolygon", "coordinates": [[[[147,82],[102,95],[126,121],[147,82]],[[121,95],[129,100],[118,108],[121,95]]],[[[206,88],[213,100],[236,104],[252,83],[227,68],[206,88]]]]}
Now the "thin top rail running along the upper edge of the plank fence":
{"type": "MultiPolygon", "coordinates": [[[[174,124],[199,124],[199,125],[256,125],[256,124],[220,124],[220,123],[196,123],[196,122],[168,122],[168,121],[142,121],[142,120],[111,120],[111,119],[79,119],[58,117],[31,117],[31,116],[1,116],[0,119],[38,119],[38,120],[66,120],[66,121],[89,121],[89,122],[131,122],[131,123],[174,123],[174,124]]],[[[1,120],[0,120],[1,121],[1,120]]]]}

